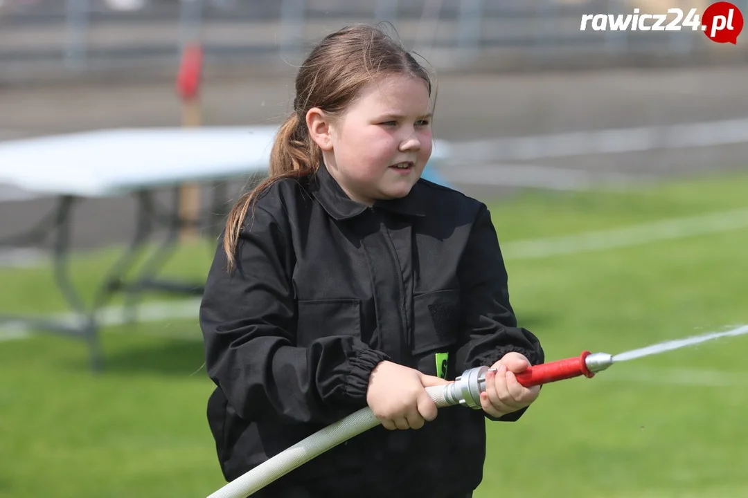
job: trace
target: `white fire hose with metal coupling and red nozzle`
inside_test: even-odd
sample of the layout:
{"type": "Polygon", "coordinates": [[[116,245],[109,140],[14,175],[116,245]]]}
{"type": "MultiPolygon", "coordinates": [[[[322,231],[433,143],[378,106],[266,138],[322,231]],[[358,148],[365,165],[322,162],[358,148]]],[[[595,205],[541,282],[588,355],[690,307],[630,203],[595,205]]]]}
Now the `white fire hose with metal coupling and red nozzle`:
{"type": "MultiPolygon", "coordinates": [[[[528,367],[524,372],[516,374],[516,377],[524,387],[532,387],[578,376],[592,378],[595,373],[605,370],[612,364],[613,356],[607,353],[592,354],[585,351],[574,358],[528,367]]],[[[464,405],[477,410],[481,408],[480,394],[485,391],[485,374],[488,370],[485,366],[465,370],[462,376],[455,379],[455,382],[426,387],[426,393],[429,394],[437,408],[464,405]]],[[[315,432],[264,461],[210,494],[208,498],[246,498],[328,449],[334,448],[361,432],[373,429],[378,424],[379,420],[370,408],[361,408],[343,420],[315,432]]]]}

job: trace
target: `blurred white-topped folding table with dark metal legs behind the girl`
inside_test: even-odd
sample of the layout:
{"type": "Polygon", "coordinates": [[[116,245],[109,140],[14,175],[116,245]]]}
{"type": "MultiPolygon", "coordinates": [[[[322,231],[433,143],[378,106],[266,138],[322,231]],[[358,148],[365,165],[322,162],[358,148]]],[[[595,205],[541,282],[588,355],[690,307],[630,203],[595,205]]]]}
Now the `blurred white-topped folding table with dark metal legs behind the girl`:
{"type": "MultiPolygon", "coordinates": [[[[28,138],[0,142],[0,184],[19,187],[32,194],[54,196],[56,208],[36,228],[0,242],[0,245],[38,244],[52,240],[55,281],[73,313],[75,325],[43,317],[3,315],[0,323],[24,323],[34,329],[62,332],[88,341],[94,370],[102,367],[98,340],[96,310],[115,291],[135,296],[146,288],[175,293],[201,294],[202,284],[168,282],[155,278],[177,243],[177,234],[186,224],[178,210],[178,187],[184,183],[220,182],[267,174],[272,140],[278,127],[200,127],[200,128],[134,128],[89,131],[76,134],[28,138]],[[171,208],[157,206],[156,189],[172,187],[175,202],[171,208]],[[137,200],[137,224],[132,242],[108,270],[93,305],[85,306],[70,279],[68,256],[73,208],[84,199],[129,194],[137,200]],[[168,228],[168,237],[144,263],[135,281],[123,281],[153,236],[153,225],[168,228]]],[[[445,182],[432,167],[449,154],[449,144],[435,143],[432,161],[424,178],[445,182]]],[[[214,188],[210,209],[220,216],[227,199],[219,199],[220,188],[214,188]]],[[[206,217],[200,217],[204,223],[206,217]]],[[[134,303],[134,297],[129,299],[134,303]]]]}

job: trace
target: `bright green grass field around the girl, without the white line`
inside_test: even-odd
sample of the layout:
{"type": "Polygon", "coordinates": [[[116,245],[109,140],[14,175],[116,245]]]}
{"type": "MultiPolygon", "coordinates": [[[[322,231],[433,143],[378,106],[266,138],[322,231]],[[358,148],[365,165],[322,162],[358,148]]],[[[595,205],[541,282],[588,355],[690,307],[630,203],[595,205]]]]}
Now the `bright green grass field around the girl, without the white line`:
{"type": "MultiPolygon", "coordinates": [[[[625,193],[532,192],[491,204],[502,243],[748,209],[748,175],[625,193]]],[[[548,360],[615,354],[748,323],[748,223],[613,249],[507,257],[512,303],[548,360]]],[[[508,254],[512,254],[508,251],[508,254]]],[[[76,261],[91,296],[114,252],[76,261]]],[[[211,249],[167,273],[201,278],[211,249]]],[[[46,268],[0,270],[3,310],[59,311],[46,268]]],[[[195,320],[105,329],[85,344],[0,342],[0,497],[204,497],[223,485],[195,320]]],[[[518,423],[488,427],[476,497],[746,497],[748,335],[547,385],[518,423]]],[[[459,408],[449,408],[459,409],[459,408]]]]}

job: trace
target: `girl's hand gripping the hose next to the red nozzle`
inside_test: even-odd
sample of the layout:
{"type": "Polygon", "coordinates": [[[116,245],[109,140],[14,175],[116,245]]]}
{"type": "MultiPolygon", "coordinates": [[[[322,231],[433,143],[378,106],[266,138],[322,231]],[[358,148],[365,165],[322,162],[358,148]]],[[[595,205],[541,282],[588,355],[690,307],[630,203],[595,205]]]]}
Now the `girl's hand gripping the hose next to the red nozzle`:
{"type": "Polygon", "coordinates": [[[540,394],[540,386],[524,387],[515,373],[524,372],[530,361],[518,352],[509,352],[491,365],[496,372],[485,374],[485,393],[480,395],[480,404],[485,413],[492,417],[502,417],[513,411],[530,406],[540,394]]]}

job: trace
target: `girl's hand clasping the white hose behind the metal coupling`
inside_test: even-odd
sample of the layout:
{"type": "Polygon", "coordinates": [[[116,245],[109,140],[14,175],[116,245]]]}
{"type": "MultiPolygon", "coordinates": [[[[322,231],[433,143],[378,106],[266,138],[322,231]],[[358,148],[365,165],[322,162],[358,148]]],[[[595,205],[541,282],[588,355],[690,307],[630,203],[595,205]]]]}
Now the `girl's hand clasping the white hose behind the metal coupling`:
{"type": "Polygon", "coordinates": [[[367,403],[384,429],[420,429],[436,418],[437,408],[426,387],[450,382],[413,368],[382,361],[371,373],[367,403]]]}

